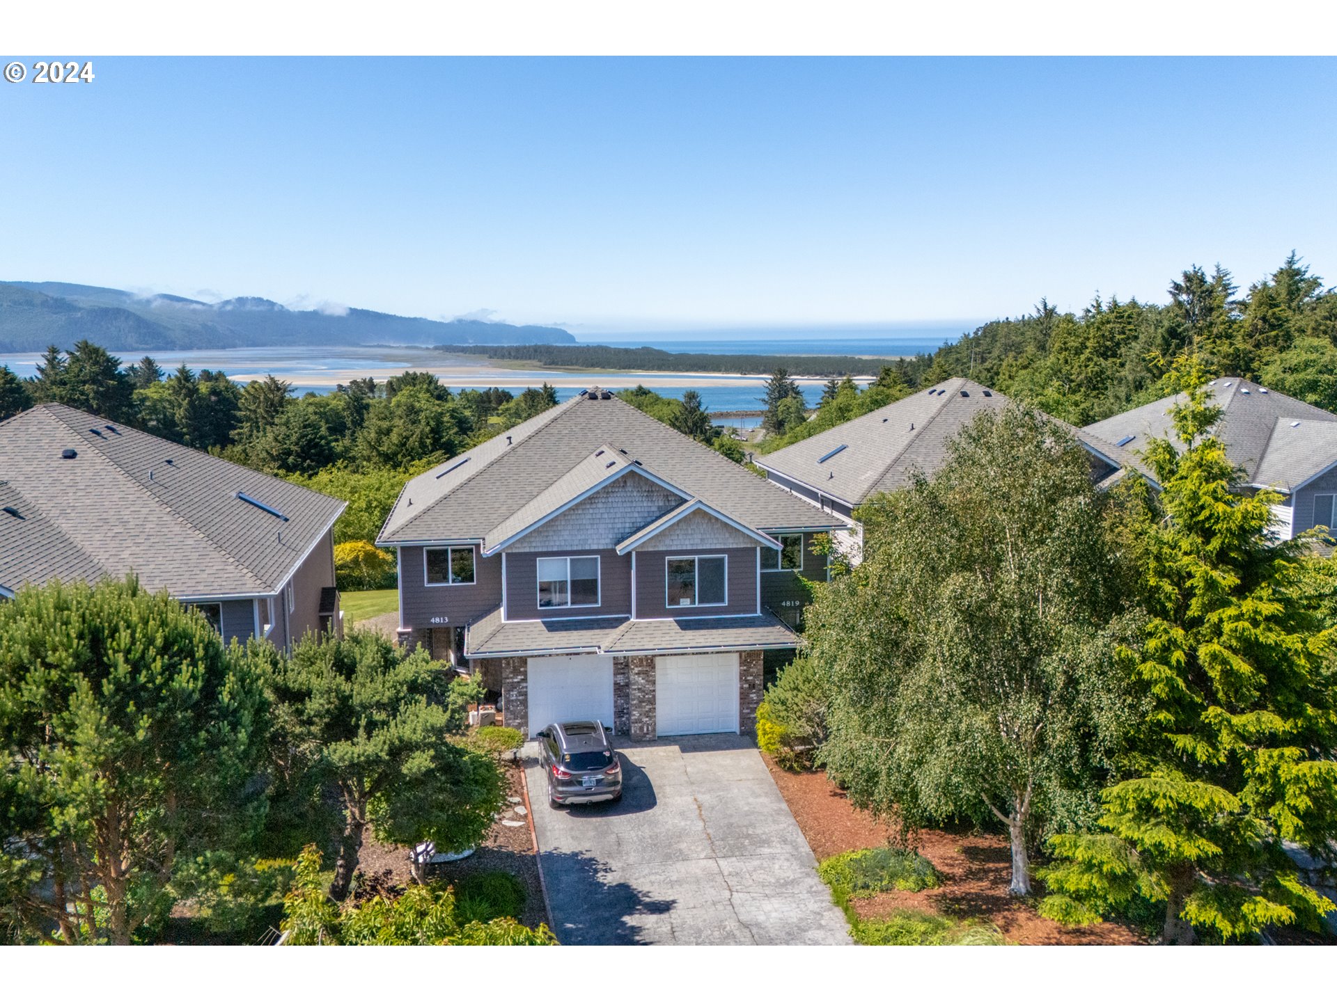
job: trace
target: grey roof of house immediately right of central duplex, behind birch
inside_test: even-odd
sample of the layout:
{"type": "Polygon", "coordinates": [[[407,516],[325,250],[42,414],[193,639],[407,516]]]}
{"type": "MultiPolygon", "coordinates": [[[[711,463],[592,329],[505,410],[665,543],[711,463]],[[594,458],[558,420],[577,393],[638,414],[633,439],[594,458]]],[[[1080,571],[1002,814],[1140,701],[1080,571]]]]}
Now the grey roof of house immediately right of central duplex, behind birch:
{"type": "MultiPolygon", "coordinates": [[[[861,505],[873,494],[909,485],[916,473],[933,474],[965,425],[980,411],[1001,410],[1007,403],[1001,393],[972,379],[947,379],[755,462],[845,504],[861,505]]],[[[1140,468],[1127,450],[1052,420],[1111,466],[1140,468]]]]}

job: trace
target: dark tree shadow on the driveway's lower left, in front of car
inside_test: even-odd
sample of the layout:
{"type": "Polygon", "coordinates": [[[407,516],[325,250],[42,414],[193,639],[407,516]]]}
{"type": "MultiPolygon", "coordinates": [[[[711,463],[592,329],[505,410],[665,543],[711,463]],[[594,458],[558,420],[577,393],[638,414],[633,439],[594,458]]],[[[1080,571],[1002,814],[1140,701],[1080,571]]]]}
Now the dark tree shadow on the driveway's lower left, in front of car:
{"type": "Polygon", "coordinates": [[[632,923],[638,915],[663,915],[675,900],[660,900],[630,883],[587,852],[545,851],[540,860],[548,887],[552,931],[566,946],[646,943],[632,923]]]}

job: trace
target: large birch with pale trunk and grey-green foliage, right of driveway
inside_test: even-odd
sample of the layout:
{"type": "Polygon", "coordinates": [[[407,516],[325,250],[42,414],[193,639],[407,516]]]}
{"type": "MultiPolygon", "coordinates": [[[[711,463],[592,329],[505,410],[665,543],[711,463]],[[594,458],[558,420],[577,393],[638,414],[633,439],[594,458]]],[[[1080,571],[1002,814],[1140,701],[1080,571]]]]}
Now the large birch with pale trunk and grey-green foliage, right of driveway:
{"type": "Polygon", "coordinates": [[[1088,469],[1047,418],[981,414],[932,481],[866,510],[864,562],[808,611],[832,778],[904,830],[1001,826],[1016,895],[1028,843],[1094,815],[1130,712],[1110,637],[1131,625],[1088,469]]]}

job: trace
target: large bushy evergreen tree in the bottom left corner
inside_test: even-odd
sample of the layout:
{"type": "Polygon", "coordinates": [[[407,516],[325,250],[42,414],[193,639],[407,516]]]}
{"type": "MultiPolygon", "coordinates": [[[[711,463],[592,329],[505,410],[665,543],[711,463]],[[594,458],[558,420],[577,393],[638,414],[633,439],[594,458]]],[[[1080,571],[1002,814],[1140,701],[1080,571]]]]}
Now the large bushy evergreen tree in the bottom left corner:
{"type": "Polygon", "coordinates": [[[249,655],[166,592],[0,603],[0,919],[62,943],[151,934],[182,868],[262,812],[263,711],[249,655]]]}

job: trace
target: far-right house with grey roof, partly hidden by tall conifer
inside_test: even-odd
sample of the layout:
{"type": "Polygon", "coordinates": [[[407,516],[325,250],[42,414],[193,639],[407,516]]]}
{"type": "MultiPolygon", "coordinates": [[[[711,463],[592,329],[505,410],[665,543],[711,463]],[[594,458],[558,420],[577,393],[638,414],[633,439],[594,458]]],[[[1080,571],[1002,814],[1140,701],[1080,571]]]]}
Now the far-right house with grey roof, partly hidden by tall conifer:
{"type": "MultiPolygon", "coordinates": [[[[1273,505],[1277,536],[1289,540],[1317,525],[1337,525],[1337,414],[1238,377],[1213,379],[1207,390],[1221,407],[1213,434],[1243,469],[1246,489],[1270,488],[1282,496],[1273,505]]],[[[1151,438],[1170,440],[1182,450],[1170,407],[1185,399],[1166,397],[1083,432],[1132,452],[1151,438]]]]}

